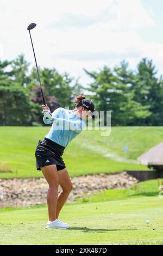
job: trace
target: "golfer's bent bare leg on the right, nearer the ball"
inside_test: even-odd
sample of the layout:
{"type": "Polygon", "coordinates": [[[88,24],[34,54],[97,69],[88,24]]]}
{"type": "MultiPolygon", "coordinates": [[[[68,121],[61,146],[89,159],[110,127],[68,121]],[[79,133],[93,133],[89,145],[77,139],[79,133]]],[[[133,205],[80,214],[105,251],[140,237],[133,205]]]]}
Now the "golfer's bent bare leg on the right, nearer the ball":
{"type": "Polygon", "coordinates": [[[62,191],[58,195],[57,212],[56,212],[57,218],[59,216],[60,210],[62,209],[62,207],[64,206],[68,198],[68,195],[72,191],[72,182],[66,168],[58,171],[58,178],[59,178],[59,185],[61,186],[62,191]]]}

